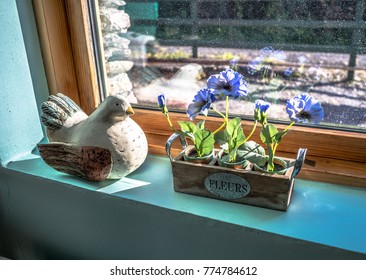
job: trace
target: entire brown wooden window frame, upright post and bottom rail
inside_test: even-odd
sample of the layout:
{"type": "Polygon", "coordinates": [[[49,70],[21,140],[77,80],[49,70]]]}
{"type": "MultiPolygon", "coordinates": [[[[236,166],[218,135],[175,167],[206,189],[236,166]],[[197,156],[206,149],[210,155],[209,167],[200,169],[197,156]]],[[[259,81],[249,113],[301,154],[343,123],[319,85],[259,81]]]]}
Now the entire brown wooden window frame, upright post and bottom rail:
{"type": "MultiPolygon", "coordinates": [[[[101,100],[87,0],[33,0],[33,6],[50,93],[67,94],[90,114],[101,100]]],[[[172,133],[164,116],[154,110],[135,111],[134,120],[145,131],[149,152],[164,155],[165,141],[172,133]]],[[[173,122],[187,120],[184,113],[170,116],[173,122]]],[[[244,131],[249,131],[252,122],[242,123],[244,131]]],[[[209,128],[220,124],[221,119],[208,117],[209,128]]],[[[253,140],[260,142],[259,133],[253,140]]],[[[295,126],[279,146],[278,155],[295,157],[300,147],[308,149],[300,178],[366,187],[366,133],[295,126]]]]}

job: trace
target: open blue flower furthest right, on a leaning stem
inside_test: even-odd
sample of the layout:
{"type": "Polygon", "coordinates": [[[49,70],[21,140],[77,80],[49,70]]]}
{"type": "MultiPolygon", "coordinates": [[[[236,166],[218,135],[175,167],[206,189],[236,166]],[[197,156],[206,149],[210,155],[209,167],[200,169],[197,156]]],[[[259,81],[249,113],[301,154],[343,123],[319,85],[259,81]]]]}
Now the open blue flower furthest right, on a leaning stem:
{"type": "Polygon", "coordinates": [[[320,102],[307,93],[287,101],[286,112],[289,118],[297,123],[317,124],[324,119],[324,111],[320,102]]]}

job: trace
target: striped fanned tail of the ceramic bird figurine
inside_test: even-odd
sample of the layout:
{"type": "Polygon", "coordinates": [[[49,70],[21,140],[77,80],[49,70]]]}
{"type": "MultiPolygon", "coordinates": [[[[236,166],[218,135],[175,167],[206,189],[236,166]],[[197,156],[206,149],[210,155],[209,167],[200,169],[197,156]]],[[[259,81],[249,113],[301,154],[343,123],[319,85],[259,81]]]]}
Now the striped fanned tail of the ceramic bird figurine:
{"type": "Polygon", "coordinates": [[[51,130],[71,127],[88,117],[74,101],[62,93],[50,95],[41,109],[42,123],[51,130]]]}

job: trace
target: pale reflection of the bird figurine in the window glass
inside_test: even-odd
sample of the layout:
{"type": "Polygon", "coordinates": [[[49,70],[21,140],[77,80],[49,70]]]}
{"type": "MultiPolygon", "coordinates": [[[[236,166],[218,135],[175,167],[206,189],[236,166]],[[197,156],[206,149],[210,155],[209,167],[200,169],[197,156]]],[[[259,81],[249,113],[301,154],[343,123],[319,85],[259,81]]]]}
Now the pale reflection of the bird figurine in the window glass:
{"type": "Polygon", "coordinates": [[[203,77],[205,74],[202,66],[190,63],[182,66],[172,78],[157,77],[146,86],[135,86],[133,92],[139,103],[156,103],[158,95],[164,93],[170,106],[186,108],[202,88],[199,80],[203,77]]]}

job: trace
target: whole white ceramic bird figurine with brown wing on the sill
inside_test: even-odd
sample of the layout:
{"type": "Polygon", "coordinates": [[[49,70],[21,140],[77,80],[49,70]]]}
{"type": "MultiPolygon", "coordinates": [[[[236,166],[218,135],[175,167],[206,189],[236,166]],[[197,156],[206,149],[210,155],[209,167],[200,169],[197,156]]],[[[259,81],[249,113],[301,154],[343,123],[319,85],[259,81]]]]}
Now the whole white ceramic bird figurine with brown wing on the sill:
{"type": "Polygon", "coordinates": [[[145,161],[146,136],[130,118],[130,103],[120,95],[108,96],[87,116],[58,93],[42,104],[42,112],[50,143],[38,148],[56,170],[101,181],[125,177],[145,161]]]}

